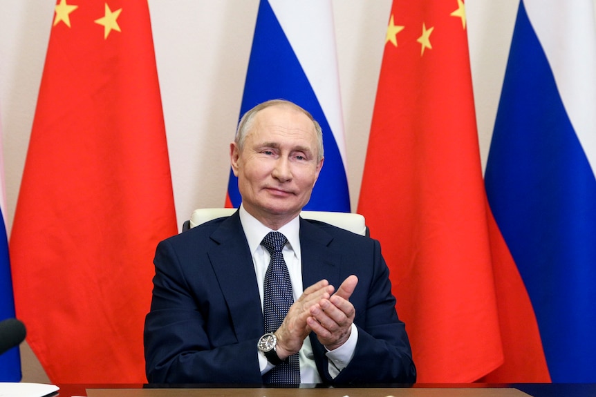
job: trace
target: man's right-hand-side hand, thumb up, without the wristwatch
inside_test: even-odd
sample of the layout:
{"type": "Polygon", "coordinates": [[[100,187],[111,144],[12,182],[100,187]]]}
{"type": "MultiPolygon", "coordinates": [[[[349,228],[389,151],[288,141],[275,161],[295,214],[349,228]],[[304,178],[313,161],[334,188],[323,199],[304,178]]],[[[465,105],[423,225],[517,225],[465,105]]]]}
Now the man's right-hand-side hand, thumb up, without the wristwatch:
{"type": "Polygon", "coordinates": [[[327,349],[342,346],[350,337],[356,315],[354,305],[348,300],[358,284],[358,278],[351,275],[330,298],[322,298],[310,308],[306,324],[312,329],[327,349]]]}

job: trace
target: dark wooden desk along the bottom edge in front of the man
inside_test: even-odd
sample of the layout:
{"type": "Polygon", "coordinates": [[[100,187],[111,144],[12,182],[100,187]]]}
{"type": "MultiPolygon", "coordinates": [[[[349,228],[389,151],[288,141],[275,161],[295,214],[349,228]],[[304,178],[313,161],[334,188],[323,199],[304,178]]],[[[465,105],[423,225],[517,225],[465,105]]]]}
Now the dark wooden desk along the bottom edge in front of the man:
{"type": "Polygon", "coordinates": [[[300,388],[210,385],[58,385],[59,397],[596,397],[596,385],[567,383],[416,384],[411,387],[300,388]]]}

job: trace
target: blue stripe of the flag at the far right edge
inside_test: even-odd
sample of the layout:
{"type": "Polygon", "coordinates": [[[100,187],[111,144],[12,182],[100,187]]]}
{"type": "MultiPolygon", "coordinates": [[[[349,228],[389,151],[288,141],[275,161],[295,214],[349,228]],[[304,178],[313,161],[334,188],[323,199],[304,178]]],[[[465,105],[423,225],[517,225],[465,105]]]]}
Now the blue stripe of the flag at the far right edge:
{"type": "Polygon", "coordinates": [[[596,180],[523,1],[485,183],[553,382],[596,382],[596,180]]]}

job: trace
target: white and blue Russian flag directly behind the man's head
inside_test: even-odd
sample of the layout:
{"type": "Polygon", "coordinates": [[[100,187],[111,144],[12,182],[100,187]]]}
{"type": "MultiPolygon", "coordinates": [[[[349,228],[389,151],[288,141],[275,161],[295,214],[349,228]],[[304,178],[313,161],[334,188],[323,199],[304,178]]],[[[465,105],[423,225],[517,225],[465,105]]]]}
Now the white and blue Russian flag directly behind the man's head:
{"type": "MultiPolygon", "coordinates": [[[[350,212],[333,10],[329,0],[261,0],[240,115],[288,99],[321,124],[325,164],[305,209],[350,212]]],[[[226,206],[238,207],[230,172],[226,206]]]]}

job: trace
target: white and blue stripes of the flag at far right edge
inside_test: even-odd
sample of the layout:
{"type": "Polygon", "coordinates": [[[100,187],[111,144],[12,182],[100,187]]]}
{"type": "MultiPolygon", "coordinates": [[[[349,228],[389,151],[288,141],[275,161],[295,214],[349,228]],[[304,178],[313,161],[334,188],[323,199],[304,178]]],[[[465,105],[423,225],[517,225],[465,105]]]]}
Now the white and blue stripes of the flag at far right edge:
{"type": "Polygon", "coordinates": [[[523,0],[485,185],[556,383],[596,382],[595,168],[593,2],[523,0]]]}

